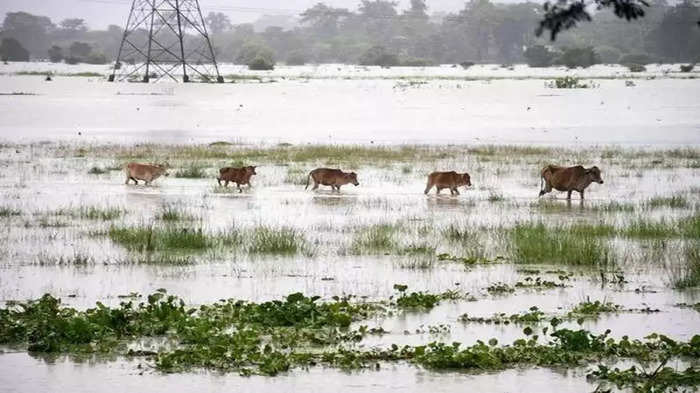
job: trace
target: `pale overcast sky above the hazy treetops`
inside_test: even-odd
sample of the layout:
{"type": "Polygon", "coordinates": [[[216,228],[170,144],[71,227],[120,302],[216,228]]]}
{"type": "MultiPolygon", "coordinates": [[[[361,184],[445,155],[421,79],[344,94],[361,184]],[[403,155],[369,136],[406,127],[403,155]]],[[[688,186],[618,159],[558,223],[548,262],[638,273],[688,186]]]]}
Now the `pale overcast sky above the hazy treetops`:
{"type": "MultiPolygon", "coordinates": [[[[508,1],[508,0],[506,0],[508,1]]],[[[513,0],[511,0],[513,1],[513,0]]],[[[200,0],[202,13],[223,12],[233,23],[253,22],[263,14],[298,14],[319,0],[200,0]]],[[[336,7],[357,9],[359,0],[326,0],[324,3],[336,7]]],[[[410,0],[399,0],[400,8],[407,8],[410,0]]],[[[465,0],[427,0],[428,12],[457,11],[465,0]]],[[[26,11],[44,15],[54,23],[65,18],[85,19],[93,29],[107,25],[124,25],[129,14],[131,0],[0,0],[0,15],[7,12],[26,11]]]]}

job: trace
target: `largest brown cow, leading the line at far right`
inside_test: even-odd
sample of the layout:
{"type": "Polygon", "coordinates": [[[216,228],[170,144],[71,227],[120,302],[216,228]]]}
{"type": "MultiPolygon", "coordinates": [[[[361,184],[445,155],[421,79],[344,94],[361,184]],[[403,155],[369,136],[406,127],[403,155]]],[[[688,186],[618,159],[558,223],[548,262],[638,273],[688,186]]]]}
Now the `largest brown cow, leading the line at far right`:
{"type": "Polygon", "coordinates": [[[542,169],[540,179],[540,196],[551,192],[552,188],[558,191],[567,191],[566,199],[571,199],[571,192],[578,191],[583,199],[583,193],[591,183],[603,184],[600,178],[600,169],[597,166],[584,168],[581,165],[561,167],[548,165],[542,169]]]}

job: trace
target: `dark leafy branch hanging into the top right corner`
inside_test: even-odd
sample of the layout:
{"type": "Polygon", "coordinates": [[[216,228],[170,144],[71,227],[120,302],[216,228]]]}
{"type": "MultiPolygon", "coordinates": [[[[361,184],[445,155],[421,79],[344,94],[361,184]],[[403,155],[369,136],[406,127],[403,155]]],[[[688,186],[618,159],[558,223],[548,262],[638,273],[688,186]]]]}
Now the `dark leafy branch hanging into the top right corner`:
{"type": "MultiPolygon", "coordinates": [[[[586,11],[589,4],[593,3],[587,4],[584,0],[545,2],[544,17],[540,21],[540,25],[537,26],[535,34],[539,37],[545,30],[549,30],[550,39],[554,41],[557,34],[575,27],[578,22],[590,22],[591,15],[586,11]]],[[[625,18],[628,21],[643,17],[644,7],[649,7],[649,3],[645,0],[594,0],[594,4],[599,10],[612,8],[618,18],[625,18]]]]}

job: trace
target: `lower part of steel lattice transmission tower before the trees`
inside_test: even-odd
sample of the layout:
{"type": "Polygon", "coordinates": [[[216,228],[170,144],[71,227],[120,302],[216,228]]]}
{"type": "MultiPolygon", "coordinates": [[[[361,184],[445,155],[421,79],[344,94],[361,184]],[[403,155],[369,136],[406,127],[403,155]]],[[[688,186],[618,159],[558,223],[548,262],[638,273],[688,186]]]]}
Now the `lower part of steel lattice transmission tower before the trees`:
{"type": "Polygon", "coordinates": [[[223,83],[198,0],[133,0],[109,81],[223,83]]]}

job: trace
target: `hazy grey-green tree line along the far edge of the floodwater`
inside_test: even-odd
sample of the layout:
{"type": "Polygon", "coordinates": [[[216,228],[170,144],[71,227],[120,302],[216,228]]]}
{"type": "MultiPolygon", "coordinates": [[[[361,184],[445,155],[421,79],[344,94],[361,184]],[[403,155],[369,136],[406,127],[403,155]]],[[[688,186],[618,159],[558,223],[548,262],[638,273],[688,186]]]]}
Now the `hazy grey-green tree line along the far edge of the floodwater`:
{"type": "MultiPolygon", "coordinates": [[[[361,0],[356,10],[349,10],[318,3],[301,12],[291,29],[271,26],[256,31],[253,24],[234,25],[225,14],[214,12],[207,15],[206,24],[217,60],[260,69],[276,62],[587,66],[700,60],[700,7],[691,0],[675,5],[653,0],[644,17],[633,22],[602,10],[576,29],[552,24],[559,26],[556,41],[536,34],[551,13],[537,3],[470,0],[453,13],[429,13],[425,0],[411,0],[403,11],[397,5],[361,0]]],[[[114,25],[90,30],[82,19],[55,24],[45,16],[10,12],[0,31],[0,56],[103,64],[114,60],[122,34],[114,25]]]]}

